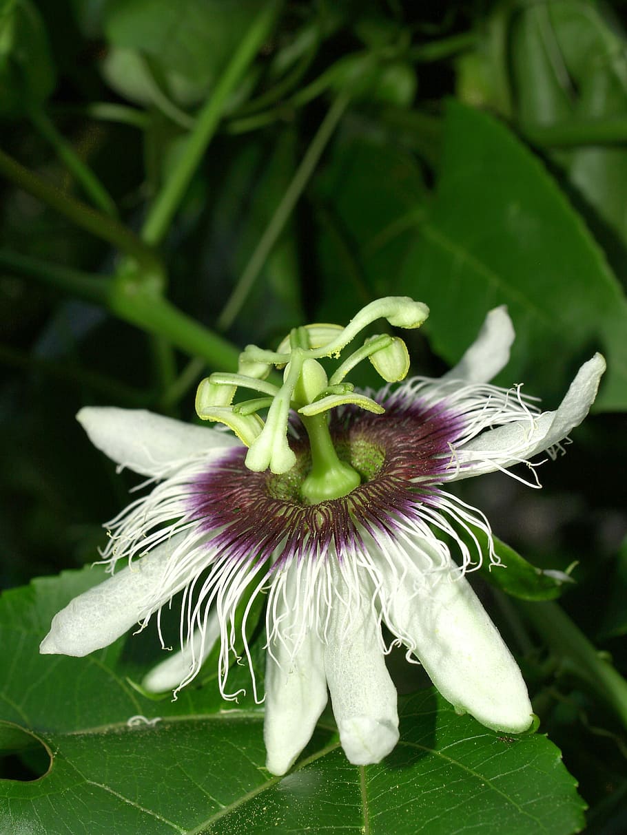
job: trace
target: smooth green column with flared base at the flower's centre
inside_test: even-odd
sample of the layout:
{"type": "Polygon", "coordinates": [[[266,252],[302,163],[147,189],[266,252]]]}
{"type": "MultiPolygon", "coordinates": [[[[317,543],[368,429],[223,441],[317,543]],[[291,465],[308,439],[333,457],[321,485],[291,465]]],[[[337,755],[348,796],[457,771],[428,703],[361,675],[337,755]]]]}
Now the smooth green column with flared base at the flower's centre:
{"type": "Polygon", "coordinates": [[[326,415],[302,417],[302,420],[311,448],[311,470],[300,488],[303,501],[306,504],[318,504],[329,498],[341,498],[359,487],[359,473],[338,458],[326,415]]]}

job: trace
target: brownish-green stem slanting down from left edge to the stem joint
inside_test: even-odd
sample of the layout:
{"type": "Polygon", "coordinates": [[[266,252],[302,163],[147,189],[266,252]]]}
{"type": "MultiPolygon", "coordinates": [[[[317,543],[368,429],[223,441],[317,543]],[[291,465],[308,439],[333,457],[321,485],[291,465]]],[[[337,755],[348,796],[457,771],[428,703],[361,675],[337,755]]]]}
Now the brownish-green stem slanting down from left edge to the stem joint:
{"type": "Polygon", "coordinates": [[[4,175],[18,188],[28,191],[46,205],[65,215],[77,226],[92,235],[106,240],[117,249],[135,259],[145,275],[161,276],[163,268],[155,252],[146,246],[129,229],[114,218],[103,215],[91,206],[67,195],[52,183],[48,183],[38,175],[33,174],[13,157],[0,150],[0,175],[4,175]]]}

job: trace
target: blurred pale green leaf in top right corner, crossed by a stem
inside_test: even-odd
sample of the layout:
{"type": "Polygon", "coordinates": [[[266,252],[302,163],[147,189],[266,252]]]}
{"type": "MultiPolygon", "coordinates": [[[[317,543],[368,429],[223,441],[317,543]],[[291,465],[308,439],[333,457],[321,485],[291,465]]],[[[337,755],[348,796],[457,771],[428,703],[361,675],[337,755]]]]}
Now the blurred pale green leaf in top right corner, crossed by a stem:
{"type": "MultiPolygon", "coordinates": [[[[576,0],[551,3],[550,13],[529,6],[514,16],[511,28],[512,86],[523,127],[627,118],[627,40],[608,8],[576,0]]],[[[614,248],[607,228],[622,240],[614,262],[624,277],[627,149],[583,144],[553,151],[550,159],[598,215],[604,245],[614,248]]]]}

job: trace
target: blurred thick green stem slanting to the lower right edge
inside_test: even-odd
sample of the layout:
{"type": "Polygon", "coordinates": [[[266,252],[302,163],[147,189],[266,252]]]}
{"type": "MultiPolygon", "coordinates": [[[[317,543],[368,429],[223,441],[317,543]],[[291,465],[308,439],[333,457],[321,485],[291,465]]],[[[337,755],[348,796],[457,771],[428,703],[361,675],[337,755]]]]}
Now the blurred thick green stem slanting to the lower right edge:
{"type": "Polygon", "coordinates": [[[568,615],[555,603],[516,600],[535,629],[568,671],[586,682],[627,727],[627,681],[604,660],[568,615]]]}

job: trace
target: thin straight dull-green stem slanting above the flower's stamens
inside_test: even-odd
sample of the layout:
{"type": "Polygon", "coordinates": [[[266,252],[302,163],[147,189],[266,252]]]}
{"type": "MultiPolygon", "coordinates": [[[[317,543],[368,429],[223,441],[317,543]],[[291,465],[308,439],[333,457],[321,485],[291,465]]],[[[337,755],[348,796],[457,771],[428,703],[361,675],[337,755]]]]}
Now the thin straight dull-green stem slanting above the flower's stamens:
{"type": "Polygon", "coordinates": [[[266,230],[259,239],[257,246],[252,252],[252,256],[247,262],[247,265],[240,276],[237,285],[233,288],[232,294],[227,301],[224,310],[217,320],[217,327],[221,331],[226,331],[228,327],[235,321],[237,314],[242,309],[244,301],[248,293],[251,291],[257,276],[263,269],[270,252],[273,250],[279,235],[283,231],[283,227],[288,222],[289,216],[292,214],[293,208],[298,202],[298,198],[302,195],[305,186],[313,175],[319,159],[327,146],[329,139],[334,133],[339,119],[342,118],[344,110],[349,104],[349,96],[347,94],[340,94],[334,103],[329,108],[329,112],[324,117],[322,124],[312,139],[306,154],[303,156],[301,164],[298,166],[296,173],[293,176],[291,183],[283,194],[280,203],[266,230]]]}

